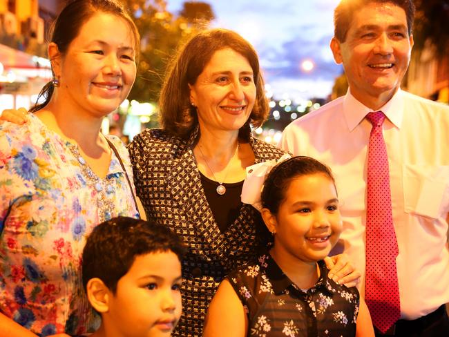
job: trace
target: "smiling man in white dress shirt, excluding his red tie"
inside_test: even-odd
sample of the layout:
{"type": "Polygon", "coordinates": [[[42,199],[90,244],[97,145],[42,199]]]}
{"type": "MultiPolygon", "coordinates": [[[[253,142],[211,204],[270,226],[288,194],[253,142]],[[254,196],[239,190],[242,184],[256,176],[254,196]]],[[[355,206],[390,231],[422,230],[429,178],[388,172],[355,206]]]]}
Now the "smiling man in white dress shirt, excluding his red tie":
{"type": "MultiPolygon", "coordinates": [[[[444,307],[449,302],[449,107],[399,88],[410,61],[413,18],[412,0],[341,1],[331,48],[350,88],[345,97],[292,122],[280,142],[290,153],[309,155],[332,168],[344,220],[334,252],[348,253],[362,271],[363,294],[373,128],[365,117],[375,111],[385,115],[381,130],[399,249],[401,319],[376,336],[449,336],[444,307]]],[[[376,242],[379,251],[383,243],[376,242]]]]}

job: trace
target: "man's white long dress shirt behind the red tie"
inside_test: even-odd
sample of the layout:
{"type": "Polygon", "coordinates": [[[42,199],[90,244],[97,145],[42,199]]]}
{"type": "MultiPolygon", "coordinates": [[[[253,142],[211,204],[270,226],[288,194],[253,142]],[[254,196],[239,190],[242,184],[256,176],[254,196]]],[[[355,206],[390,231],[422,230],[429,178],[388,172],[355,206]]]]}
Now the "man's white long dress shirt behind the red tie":
{"type": "MultiPolygon", "coordinates": [[[[399,244],[401,318],[412,320],[449,302],[449,107],[400,89],[382,108],[392,213],[399,244]]],[[[280,147],[332,168],[341,201],[343,250],[362,272],[365,291],[367,108],[348,90],[285,128],[280,147]]]]}

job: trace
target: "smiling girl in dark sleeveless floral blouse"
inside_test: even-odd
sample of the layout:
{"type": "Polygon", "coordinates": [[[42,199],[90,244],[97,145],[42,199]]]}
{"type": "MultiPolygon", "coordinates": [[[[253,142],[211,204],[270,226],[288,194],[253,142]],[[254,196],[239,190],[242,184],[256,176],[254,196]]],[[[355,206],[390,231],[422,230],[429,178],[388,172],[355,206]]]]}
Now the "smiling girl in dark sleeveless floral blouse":
{"type": "Polygon", "coordinates": [[[342,229],[329,168],[309,157],[280,162],[261,199],[274,245],[221,283],[203,336],[374,336],[359,291],[329,278],[323,262],[342,229]]]}

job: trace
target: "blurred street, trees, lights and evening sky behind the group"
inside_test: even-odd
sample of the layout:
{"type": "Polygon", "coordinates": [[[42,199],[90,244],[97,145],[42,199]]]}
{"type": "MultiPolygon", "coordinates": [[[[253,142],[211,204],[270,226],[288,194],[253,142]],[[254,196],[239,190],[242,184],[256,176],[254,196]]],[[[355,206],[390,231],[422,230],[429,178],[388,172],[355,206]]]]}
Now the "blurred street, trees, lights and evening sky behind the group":
{"type": "MultiPolygon", "coordinates": [[[[343,68],[329,49],[338,0],[122,0],[142,36],[137,79],[128,99],[104,119],[104,133],[128,142],[158,126],[157,99],[169,59],[204,28],[236,30],[254,45],[271,108],[255,130],[277,143],[283,128],[345,95],[343,68]]],[[[30,108],[52,74],[46,39],[65,0],[0,0],[0,111],[30,108]]],[[[414,48],[402,88],[449,104],[449,0],[415,0],[414,48]]]]}

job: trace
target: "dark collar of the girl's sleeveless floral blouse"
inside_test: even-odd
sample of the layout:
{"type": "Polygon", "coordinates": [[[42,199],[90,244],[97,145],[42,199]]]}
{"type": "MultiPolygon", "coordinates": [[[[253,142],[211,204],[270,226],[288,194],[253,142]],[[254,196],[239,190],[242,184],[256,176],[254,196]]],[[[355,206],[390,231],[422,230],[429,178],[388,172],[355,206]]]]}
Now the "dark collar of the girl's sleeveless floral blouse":
{"type": "MultiPolygon", "coordinates": [[[[283,273],[274,258],[271,258],[268,251],[259,256],[258,262],[260,264],[260,269],[265,272],[265,275],[267,275],[267,278],[271,283],[271,287],[276,295],[280,295],[289,288],[300,290],[296,285],[294,285],[288,276],[283,273]]],[[[318,267],[320,268],[320,277],[314,287],[310,288],[309,291],[314,292],[317,289],[320,289],[320,291],[332,293],[328,287],[327,268],[325,266],[325,262],[323,260],[318,261],[318,267]]]]}

